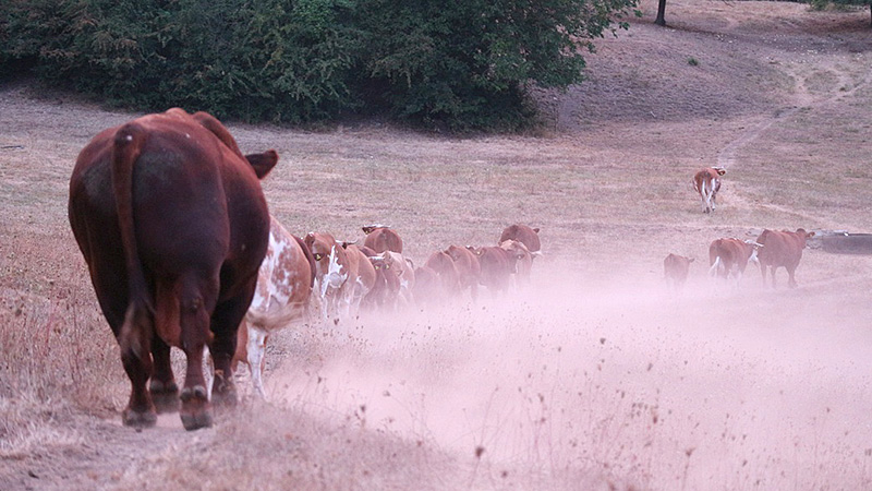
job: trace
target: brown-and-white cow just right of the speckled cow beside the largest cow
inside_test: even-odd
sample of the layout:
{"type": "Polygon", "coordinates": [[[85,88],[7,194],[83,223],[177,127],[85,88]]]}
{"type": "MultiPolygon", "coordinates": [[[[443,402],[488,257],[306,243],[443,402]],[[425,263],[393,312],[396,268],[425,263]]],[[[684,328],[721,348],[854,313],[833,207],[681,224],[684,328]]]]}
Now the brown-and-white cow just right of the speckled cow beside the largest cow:
{"type": "Polygon", "coordinates": [[[348,254],[330,233],[308,232],[303,241],[315,259],[314,289],[320,301],[322,319],[339,322],[350,276],[348,254]]]}

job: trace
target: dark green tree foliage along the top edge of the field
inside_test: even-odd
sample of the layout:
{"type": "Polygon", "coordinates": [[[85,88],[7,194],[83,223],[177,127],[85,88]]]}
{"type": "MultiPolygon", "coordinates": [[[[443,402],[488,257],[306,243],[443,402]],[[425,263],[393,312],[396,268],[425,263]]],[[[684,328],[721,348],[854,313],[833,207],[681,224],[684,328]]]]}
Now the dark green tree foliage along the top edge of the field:
{"type": "Polygon", "coordinates": [[[138,109],[510,130],[635,1],[7,0],[0,68],[138,109]]]}

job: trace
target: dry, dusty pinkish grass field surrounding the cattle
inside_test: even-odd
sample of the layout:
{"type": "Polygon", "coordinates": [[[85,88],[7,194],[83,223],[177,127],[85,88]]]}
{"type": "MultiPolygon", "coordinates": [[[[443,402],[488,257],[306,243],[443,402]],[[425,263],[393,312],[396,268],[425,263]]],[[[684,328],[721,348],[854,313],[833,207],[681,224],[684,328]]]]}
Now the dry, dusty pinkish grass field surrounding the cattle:
{"type": "Polygon", "coordinates": [[[0,489],[872,488],[872,256],[809,248],[797,289],[707,276],[719,237],[872,231],[869,12],[655,9],[537,95],[535,135],[229,123],[279,152],[264,189],[295,233],[386,223],[420,262],[526,223],[545,254],[506,297],[281,332],[268,402],[238,375],[244,403],[196,432],[121,426],[66,220],[78,151],[138,115],[0,86],[0,489]],[[711,165],[710,216],[690,177],[711,165]],[[669,252],[695,258],[679,295],[669,252]]]}

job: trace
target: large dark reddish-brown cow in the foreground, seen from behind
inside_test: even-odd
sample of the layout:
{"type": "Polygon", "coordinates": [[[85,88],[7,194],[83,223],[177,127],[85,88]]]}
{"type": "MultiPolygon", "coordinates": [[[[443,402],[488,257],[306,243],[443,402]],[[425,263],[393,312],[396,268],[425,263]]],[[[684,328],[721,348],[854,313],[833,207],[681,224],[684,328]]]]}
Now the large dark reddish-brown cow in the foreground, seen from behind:
{"type": "Polygon", "coordinates": [[[181,398],[186,430],[210,426],[205,346],[213,402],[235,402],[237,331],[269,241],[258,179],[277,160],[243,156],[217,119],[178,108],[105,130],[78,154],[70,225],[131,381],[124,424],[152,427],[156,404],[181,398]],[[181,393],[170,346],[187,357],[181,393]]]}

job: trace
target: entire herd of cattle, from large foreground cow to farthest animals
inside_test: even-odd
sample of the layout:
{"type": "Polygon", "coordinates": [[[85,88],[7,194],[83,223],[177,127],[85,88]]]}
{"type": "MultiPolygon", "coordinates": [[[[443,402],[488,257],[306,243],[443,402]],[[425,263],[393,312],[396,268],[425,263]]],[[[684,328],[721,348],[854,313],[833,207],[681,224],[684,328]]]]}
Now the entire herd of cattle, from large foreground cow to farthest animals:
{"type": "MultiPolygon", "coordinates": [[[[448,246],[419,266],[390,227],[364,227],[362,243],[323,231],[294,237],[270,216],[258,182],[277,161],[271,149],[243,155],[220,121],[178,108],[107,129],[80,153],[69,218],[131,381],[124,424],[152,427],[158,411],[178,410],[185,429],[208,427],[211,405],[237,400],[239,361],[263,395],[265,344],[276,328],[310,315],[338,322],[360,309],[475,298],[480,285],[502,292],[529,280],[541,253],[538,229],[525,225],[491,246],[448,246]],[[181,391],[170,347],[187,359],[181,391]]],[[[723,175],[705,169],[694,178],[705,213],[715,209],[723,175]]],[[[800,229],[765,230],[753,242],[718,239],[712,270],[726,277],[755,261],[764,279],[772,268],[774,284],[784,266],[794,286],[808,237],[800,229]]],[[[682,284],[690,261],[670,254],[667,277],[682,284]]]]}

